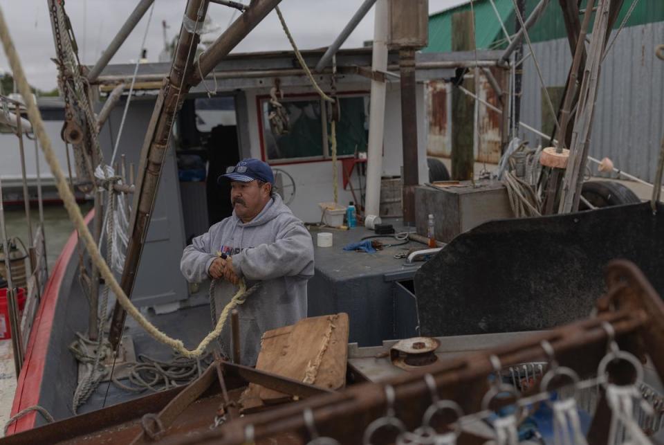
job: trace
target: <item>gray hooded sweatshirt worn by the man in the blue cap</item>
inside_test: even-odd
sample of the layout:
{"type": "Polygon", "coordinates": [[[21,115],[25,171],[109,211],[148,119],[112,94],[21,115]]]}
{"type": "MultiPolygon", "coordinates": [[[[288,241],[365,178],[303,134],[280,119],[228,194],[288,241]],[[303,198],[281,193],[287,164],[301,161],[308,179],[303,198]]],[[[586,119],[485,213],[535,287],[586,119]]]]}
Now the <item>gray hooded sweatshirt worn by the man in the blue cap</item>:
{"type": "MultiPolygon", "coordinates": [[[[208,269],[217,252],[232,256],[235,273],[256,291],[237,307],[240,318],[241,362],[255,365],[264,332],[292,325],[306,317],[306,282],[313,276],[311,235],[278,194],[259,215],[243,223],[235,216],[210,227],[185,248],[180,269],[189,282],[210,278],[208,269]]],[[[230,302],[237,287],[217,280],[216,316],[230,302]]],[[[221,333],[223,354],[232,347],[230,320],[221,333]]]]}

